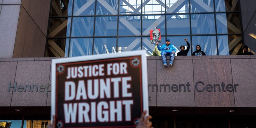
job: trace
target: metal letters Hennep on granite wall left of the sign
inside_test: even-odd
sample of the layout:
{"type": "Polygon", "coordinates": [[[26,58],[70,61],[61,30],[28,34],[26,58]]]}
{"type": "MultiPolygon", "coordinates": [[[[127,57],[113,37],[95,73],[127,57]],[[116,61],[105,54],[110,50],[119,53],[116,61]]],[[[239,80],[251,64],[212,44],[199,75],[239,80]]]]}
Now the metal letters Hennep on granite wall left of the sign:
{"type": "Polygon", "coordinates": [[[47,85],[37,85],[37,84],[33,84],[33,85],[23,85],[23,84],[19,84],[17,85],[17,82],[14,83],[14,85],[10,82],[8,85],[8,92],[45,92],[45,94],[48,94],[48,92],[51,92],[51,85],[47,84],[47,85]]]}

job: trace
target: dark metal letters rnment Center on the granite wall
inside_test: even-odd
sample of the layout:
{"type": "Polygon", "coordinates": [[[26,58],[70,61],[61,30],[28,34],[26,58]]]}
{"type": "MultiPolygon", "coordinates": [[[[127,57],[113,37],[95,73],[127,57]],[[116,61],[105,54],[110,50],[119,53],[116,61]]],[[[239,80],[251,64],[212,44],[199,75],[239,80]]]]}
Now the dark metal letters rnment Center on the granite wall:
{"type": "MultiPolygon", "coordinates": [[[[170,84],[160,84],[160,85],[148,84],[148,88],[150,88],[150,86],[151,86],[152,92],[154,92],[154,89],[156,89],[156,92],[159,92],[159,91],[160,92],[162,92],[162,91],[170,92],[171,90],[172,90],[172,92],[177,92],[177,91],[190,92],[191,91],[190,90],[191,85],[189,82],[187,82],[187,84],[172,84],[172,85],[170,85],[170,84]],[[166,89],[166,87],[168,87],[168,88],[166,89]]],[[[196,91],[198,91],[198,92],[204,92],[204,91],[207,91],[207,92],[212,92],[212,91],[214,91],[214,92],[216,92],[216,91],[218,91],[218,92],[221,92],[221,91],[222,92],[226,92],[226,91],[233,92],[233,91],[235,91],[236,92],[236,88],[239,85],[238,84],[224,84],[224,82],[222,82],[221,84],[213,84],[212,85],[212,84],[204,84],[204,82],[198,81],[198,82],[196,82],[196,84],[194,86],[195,86],[196,91]]]]}

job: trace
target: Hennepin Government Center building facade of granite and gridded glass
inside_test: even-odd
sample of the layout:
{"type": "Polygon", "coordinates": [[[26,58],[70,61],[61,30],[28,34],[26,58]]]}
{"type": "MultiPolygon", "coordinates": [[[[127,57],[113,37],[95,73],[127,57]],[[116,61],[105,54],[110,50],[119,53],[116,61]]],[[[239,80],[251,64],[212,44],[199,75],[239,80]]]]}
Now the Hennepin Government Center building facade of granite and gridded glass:
{"type": "Polygon", "coordinates": [[[21,120],[23,128],[26,120],[50,120],[50,57],[146,50],[155,128],[256,128],[256,55],[238,55],[243,45],[256,50],[255,4],[0,0],[0,121],[21,120]],[[188,38],[188,56],[164,68],[150,43],[155,28],[177,50],[188,38]],[[207,56],[190,56],[196,44],[207,56]]]}

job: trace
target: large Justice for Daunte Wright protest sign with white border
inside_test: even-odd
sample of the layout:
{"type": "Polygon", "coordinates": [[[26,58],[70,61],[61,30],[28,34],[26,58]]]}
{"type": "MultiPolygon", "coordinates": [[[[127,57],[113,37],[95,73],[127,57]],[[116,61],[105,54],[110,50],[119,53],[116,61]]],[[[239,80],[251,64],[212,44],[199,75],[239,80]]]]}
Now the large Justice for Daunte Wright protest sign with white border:
{"type": "Polygon", "coordinates": [[[131,128],[148,111],[146,52],[52,60],[57,128],[131,128]]]}

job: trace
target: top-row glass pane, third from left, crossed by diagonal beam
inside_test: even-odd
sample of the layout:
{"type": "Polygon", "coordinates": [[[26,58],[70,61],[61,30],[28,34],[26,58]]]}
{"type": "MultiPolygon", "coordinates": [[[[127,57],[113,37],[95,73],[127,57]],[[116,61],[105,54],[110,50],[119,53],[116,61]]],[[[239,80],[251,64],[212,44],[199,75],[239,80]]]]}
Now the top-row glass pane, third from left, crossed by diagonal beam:
{"type": "Polygon", "coordinates": [[[118,0],[97,0],[96,15],[117,15],[117,10],[118,0]]]}

